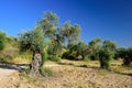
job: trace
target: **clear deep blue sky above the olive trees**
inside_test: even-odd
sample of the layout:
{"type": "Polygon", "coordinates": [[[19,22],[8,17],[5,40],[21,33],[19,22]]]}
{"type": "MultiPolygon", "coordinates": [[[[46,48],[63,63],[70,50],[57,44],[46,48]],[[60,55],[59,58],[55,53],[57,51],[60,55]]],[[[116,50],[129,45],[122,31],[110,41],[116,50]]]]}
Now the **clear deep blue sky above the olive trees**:
{"type": "Polygon", "coordinates": [[[132,46],[132,0],[0,0],[0,30],[18,36],[47,11],[56,13],[61,24],[79,24],[86,43],[100,37],[132,46]]]}

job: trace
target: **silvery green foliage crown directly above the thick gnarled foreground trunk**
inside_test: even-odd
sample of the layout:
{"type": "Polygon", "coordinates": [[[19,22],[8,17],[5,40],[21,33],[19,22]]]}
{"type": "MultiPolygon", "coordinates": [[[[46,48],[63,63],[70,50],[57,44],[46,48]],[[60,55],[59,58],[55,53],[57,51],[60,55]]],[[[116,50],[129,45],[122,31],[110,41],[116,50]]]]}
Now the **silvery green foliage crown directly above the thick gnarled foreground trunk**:
{"type": "Polygon", "coordinates": [[[40,29],[33,29],[19,34],[20,51],[42,51],[44,47],[44,34],[40,29]]]}

